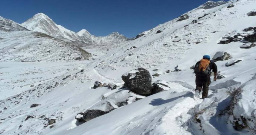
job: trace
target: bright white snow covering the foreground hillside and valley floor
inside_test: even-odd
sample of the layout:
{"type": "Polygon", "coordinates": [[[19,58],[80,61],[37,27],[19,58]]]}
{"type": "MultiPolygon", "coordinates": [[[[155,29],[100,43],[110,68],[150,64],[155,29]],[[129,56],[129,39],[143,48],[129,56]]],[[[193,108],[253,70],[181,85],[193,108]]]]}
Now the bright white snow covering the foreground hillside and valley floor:
{"type": "MultiPolygon", "coordinates": [[[[103,50],[103,54],[94,55],[95,60],[62,64],[40,62],[40,65],[37,65],[38,62],[25,62],[24,65],[19,62],[1,62],[0,118],[3,120],[0,121],[0,133],[250,134],[248,128],[234,130],[232,122],[241,116],[252,120],[255,118],[256,48],[240,49],[242,42],[225,45],[218,42],[224,36],[244,33],[243,29],[256,27],[256,18],[247,15],[255,10],[256,3],[254,0],[231,2],[207,10],[196,8],[186,13],[189,19],[180,22],[174,19],[158,25],[138,39],[109,47],[109,51],[103,50]],[[227,8],[231,2],[235,6],[227,8]],[[204,14],[208,15],[199,19],[198,23],[191,24],[192,20],[204,14]],[[158,30],[162,32],[156,34],[158,30]],[[179,42],[173,42],[176,36],[181,39],[179,42]],[[200,43],[196,44],[198,40],[200,43]],[[136,48],[132,48],[133,46],[136,48]],[[212,81],[209,98],[202,100],[194,97],[195,77],[190,67],[203,55],[213,57],[216,52],[222,51],[232,55],[233,58],[228,61],[242,61],[230,67],[225,66],[228,61],[217,61],[218,71],[225,78],[212,81]],[[179,72],[174,71],[177,65],[181,69],[179,72]],[[121,76],[138,67],[148,69],[151,75],[161,74],[153,78],[152,82],[163,80],[161,83],[168,87],[160,93],[144,97],[86,123],[77,123],[75,116],[80,111],[97,106],[104,100],[111,100],[115,104],[121,98],[115,97],[115,94],[127,90],[121,88],[124,83],[121,76]],[[153,71],[155,69],[158,70],[153,71]],[[170,72],[166,73],[167,70],[170,72]],[[50,73],[52,76],[48,75],[50,73]],[[95,81],[115,83],[119,87],[112,91],[107,87],[91,89],[95,81]],[[30,87],[32,84],[34,86],[30,87]],[[231,110],[232,115],[228,115],[224,112],[231,97],[226,92],[234,87],[240,87],[244,91],[231,110]],[[40,105],[30,108],[34,103],[40,105]],[[25,121],[29,115],[34,118],[25,121]],[[46,118],[56,119],[54,127],[47,126],[44,115],[46,118]]],[[[5,40],[5,37],[0,37],[5,40]]],[[[94,54],[100,51],[98,46],[91,46],[89,50],[94,54]]],[[[5,58],[8,59],[7,56],[5,58]]],[[[255,126],[252,121],[248,124],[250,127],[255,126]]]]}

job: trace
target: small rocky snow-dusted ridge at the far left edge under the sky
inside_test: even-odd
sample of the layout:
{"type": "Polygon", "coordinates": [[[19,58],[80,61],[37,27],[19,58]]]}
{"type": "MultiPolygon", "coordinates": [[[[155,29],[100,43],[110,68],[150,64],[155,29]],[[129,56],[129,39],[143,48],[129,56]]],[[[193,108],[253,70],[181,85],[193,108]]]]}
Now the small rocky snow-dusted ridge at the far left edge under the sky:
{"type": "Polygon", "coordinates": [[[0,32],[1,31],[28,31],[28,29],[22,27],[21,25],[12,20],[8,20],[0,16],[0,32]]]}

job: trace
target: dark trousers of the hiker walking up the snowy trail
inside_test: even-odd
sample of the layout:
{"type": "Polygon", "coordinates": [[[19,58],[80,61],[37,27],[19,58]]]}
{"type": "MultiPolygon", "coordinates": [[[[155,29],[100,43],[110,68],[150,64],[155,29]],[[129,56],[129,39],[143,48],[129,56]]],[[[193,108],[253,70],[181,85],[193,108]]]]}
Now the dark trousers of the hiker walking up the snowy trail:
{"type": "Polygon", "coordinates": [[[195,84],[196,84],[196,89],[199,90],[199,93],[202,91],[203,88],[203,93],[202,93],[202,98],[207,98],[208,96],[208,91],[209,91],[209,85],[211,84],[211,78],[210,76],[204,77],[204,76],[196,76],[195,77],[195,84]]]}

